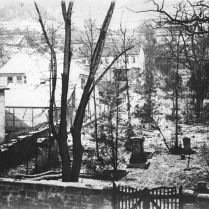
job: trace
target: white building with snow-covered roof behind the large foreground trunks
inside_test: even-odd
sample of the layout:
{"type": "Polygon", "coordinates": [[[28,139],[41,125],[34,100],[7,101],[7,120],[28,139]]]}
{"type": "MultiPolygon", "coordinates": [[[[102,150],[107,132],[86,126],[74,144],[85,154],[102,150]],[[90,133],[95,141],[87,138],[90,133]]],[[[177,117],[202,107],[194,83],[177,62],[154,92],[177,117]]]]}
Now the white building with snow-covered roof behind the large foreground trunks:
{"type": "MultiPolygon", "coordinates": [[[[63,71],[63,53],[57,55],[57,88],[55,119],[59,120],[61,106],[61,73],[63,71]]],[[[7,128],[14,131],[19,128],[35,127],[48,121],[50,100],[49,59],[44,56],[18,53],[0,69],[0,83],[8,86],[6,92],[7,128]]],[[[71,62],[68,89],[68,126],[73,122],[84,85],[86,72],[74,61],[71,62]]],[[[89,103],[92,103],[90,101],[89,103]]],[[[93,106],[88,104],[86,116],[93,114],[93,106]]],[[[68,127],[68,128],[69,128],[68,127]]]]}

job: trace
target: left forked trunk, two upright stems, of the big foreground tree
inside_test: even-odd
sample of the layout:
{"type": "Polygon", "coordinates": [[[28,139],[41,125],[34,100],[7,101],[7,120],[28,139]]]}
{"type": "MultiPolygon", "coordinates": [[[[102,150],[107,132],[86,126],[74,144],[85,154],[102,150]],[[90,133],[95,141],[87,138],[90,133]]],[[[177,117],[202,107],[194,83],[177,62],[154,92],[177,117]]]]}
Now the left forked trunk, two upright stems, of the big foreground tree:
{"type": "Polygon", "coordinates": [[[50,98],[49,120],[52,129],[52,134],[58,142],[59,153],[62,159],[62,181],[67,182],[71,180],[70,156],[67,146],[66,110],[67,110],[67,93],[68,93],[70,61],[72,56],[70,46],[71,46],[71,14],[72,14],[73,2],[69,3],[69,7],[67,11],[66,11],[65,2],[62,1],[61,5],[62,5],[63,18],[65,22],[65,51],[64,51],[64,66],[63,66],[63,74],[62,74],[61,120],[60,120],[59,130],[57,130],[53,118],[56,80],[57,80],[56,52],[54,50],[53,43],[50,42],[49,36],[46,32],[45,25],[42,21],[39,8],[35,3],[35,7],[39,15],[39,22],[43,31],[43,35],[51,52],[52,92],[50,98]]]}

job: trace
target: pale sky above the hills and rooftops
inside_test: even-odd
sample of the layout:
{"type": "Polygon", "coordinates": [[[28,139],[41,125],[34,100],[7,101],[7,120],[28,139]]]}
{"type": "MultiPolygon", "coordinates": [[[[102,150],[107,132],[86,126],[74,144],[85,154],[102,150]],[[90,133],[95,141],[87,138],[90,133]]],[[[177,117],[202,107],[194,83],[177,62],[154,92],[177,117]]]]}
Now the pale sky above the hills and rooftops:
{"type": "MultiPolygon", "coordinates": [[[[162,3],[162,0],[156,0],[158,3],[162,3]]],[[[173,5],[180,0],[165,0],[165,8],[172,9],[173,5]]],[[[9,5],[13,2],[30,2],[34,0],[0,0],[0,8],[5,5],[9,5]]],[[[61,13],[61,1],[60,0],[36,0],[37,4],[57,15],[61,13]]],[[[69,0],[66,0],[66,5],[69,4],[69,0]]],[[[84,20],[91,19],[96,20],[96,25],[100,26],[103,23],[107,10],[110,6],[111,0],[74,0],[72,22],[78,28],[84,26],[84,20]]],[[[148,0],[116,0],[116,5],[111,20],[110,28],[118,29],[120,23],[126,28],[136,28],[144,20],[156,18],[157,14],[152,13],[134,13],[130,10],[139,11],[155,8],[153,3],[148,0]]],[[[62,18],[60,16],[60,18],[62,18]]]]}

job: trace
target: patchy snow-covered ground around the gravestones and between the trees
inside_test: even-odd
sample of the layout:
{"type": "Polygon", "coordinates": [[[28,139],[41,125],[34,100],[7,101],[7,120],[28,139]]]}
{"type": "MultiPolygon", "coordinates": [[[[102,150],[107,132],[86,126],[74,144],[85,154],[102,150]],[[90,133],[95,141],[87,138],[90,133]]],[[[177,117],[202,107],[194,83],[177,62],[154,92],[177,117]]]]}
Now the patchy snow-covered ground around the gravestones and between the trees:
{"type": "MultiPolygon", "coordinates": [[[[159,126],[163,132],[163,135],[167,139],[169,145],[172,144],[172,135],[175,131],[174,124],[171,121],[165,119],[165,114],[171,114],[172,102],[164,98],[164,94],[159,92],[158,103],[160,104],[160,116],[159,126]]],[[[143,101],[140,96],[135,94],[132,95],[132,111],[136,104],[140,106],[143,105],[143,101]]],[[[125,115],[124,115],[125,118],[125,115]]],[[[132,119],[133,125],[139,123],[139,119],[132,119]]],[[[188,155],[186,155],[185,160],[181,160],[180,155],[171,155],[163,142],[162,136],[159,134],[158,130],[147,131],[143,130],[145,137],[144,149],[145,151],[152,151],[154,155],[150,159],[150,166],[147,170],[140,168],[129,168],[127,169],[127,164],[129,164],[129,159],[131,152],[123,151],[126,163],[120,166],[120,169],[127,169],[129,171],[128,175],[117,182],[117,184],[126,184],[132,187],[138,188],[154,188],[158,186],[180,186],[183,185],[184,188],[194,189],[198,181],[208,181],[209,180],[209,166],[205,164],[204,157],[201,156],[201,149],[203,145],[209,147],[209,128],[204,125],[194,124],[185,125],[181,124],[182,135],[179,136],[179,143],[182,144],[183,137],[191,138],[191,148],[196,151],[195,154],[191,155],[190,160],[190,171],[184,171],[188,165],[188,155]]],[[[85,148],[95,148],[95,144],[89,140],[92,130],[87,130],[85,128],[85,134],[82,134],[82,144],[85,148]]],[[[69,136],[69,145],[72,145],[72,138],[69,136]]],[[[30,167],[30,166],[29,166],[30,167]]],[[[3,176],[13,176],[15,173],[25,173],[24,165],[18,168],[11,168],[10,171],[5,173],[3,176]]],[[[95,187],[96,185],[106,184],[107,182],[90,180],[81,178],[79,180],[82,183],[91,185],[95,187]]],[[[208,185],[209,186],[209,185],[208,185]]]]}

